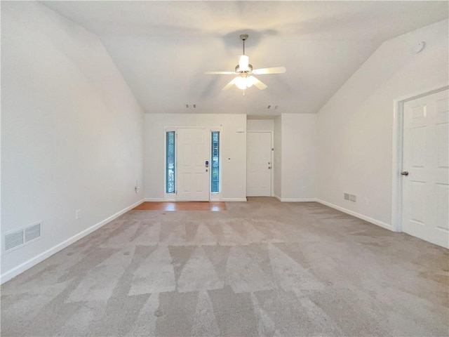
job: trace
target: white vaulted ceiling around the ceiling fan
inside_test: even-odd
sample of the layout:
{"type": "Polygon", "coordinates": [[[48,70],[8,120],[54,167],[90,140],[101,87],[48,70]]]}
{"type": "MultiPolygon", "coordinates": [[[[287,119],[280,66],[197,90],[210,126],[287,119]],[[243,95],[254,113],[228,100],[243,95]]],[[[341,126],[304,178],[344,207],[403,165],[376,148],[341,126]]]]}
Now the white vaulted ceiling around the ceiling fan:
{"type": "MultiPolygon", "coordinates": [[[[392,37],[448,18],[448,1],[43,1],[100,37],[147,113],[314,113],[392,37]],[[268,88],[222,91],[246,55],[268,88]],[[196,108],[186,107],[196,104],[196,108]],[[272,105],[267,109],[267,105],[272,105]],[[275,106],[278,106],[274,110],[275,106]]],[[[419,42],[419,41],[417,41],[419,42]]]]}

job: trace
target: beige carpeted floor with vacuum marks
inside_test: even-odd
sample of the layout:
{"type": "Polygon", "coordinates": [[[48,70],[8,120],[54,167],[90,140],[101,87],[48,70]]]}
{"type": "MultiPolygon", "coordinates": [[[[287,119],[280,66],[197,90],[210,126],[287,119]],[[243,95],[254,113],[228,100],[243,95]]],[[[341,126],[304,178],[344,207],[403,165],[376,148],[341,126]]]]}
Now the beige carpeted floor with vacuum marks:
{"type": "Polygon", "coordinates": [[[130,211],[1,286],[1,336],[448,336],[448,257],[316,203],[130,211]]]}

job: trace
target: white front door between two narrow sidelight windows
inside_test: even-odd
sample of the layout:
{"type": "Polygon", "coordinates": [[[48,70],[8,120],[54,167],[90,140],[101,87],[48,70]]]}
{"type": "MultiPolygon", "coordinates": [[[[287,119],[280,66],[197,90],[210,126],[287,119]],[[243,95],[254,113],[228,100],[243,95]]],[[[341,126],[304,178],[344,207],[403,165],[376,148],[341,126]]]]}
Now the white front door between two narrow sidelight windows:
{"type": "Polygon", "coordinates": [[[209,157],[209,129],[177,129],[177,200],[209,200],[209,157]]]}

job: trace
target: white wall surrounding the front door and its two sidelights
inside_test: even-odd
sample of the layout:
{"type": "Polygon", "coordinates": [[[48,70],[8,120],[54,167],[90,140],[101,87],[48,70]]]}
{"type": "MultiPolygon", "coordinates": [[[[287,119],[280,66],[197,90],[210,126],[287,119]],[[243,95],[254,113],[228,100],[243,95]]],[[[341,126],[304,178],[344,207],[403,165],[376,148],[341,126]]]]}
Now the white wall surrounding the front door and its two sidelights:
{"type": "Polygon", "coordinates": [[[145,199],[164,198],[166,127],[220,127],[223,201],[246,200],[246,114],[145,114],[145,199]]]}

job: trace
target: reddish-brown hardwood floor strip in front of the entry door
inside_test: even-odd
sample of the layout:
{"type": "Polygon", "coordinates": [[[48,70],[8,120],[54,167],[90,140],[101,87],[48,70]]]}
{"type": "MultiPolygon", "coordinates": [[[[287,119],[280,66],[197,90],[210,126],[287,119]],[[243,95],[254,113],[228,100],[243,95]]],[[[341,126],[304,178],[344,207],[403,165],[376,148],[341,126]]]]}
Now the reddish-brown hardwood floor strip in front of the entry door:
{"type": "Polygon", "coordinates": [[[226,211],[223,201],[145,201],[134,211],[226,211]]]}

